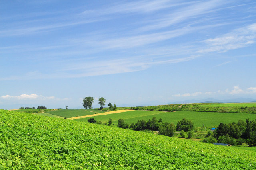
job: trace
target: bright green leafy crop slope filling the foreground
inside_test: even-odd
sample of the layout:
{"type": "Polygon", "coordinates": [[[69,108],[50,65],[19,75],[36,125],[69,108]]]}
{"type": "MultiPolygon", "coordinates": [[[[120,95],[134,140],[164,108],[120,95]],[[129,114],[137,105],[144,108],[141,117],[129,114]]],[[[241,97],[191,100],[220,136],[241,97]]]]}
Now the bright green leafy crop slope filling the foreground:
{"type": "Polygon", "coordinates": [[[256,168],[255,152],[233,147],[5,110],[0,124],[1,169],[256,168]]]}

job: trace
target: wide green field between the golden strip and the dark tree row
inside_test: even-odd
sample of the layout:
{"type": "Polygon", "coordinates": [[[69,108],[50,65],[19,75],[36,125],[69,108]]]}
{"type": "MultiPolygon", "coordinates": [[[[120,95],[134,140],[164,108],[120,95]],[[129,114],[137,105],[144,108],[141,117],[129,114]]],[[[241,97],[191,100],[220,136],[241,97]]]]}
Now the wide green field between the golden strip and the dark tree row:
{"type": "MultiPolygon", "coordinates": [[[[113,123],[117,124],[118,119],[124,119],[126,123],[136,123],[138,120],[162,119],[163,122],[173,122],[177,124],[178,121],[184,117],[194,122],[195,127],[212,127],[218,126],[220,122],[232,123],[238,120],[245,121],[247,118],[250,120],[256,119],[256,114],[248,113],[215,113],[215,112],[195,112],[195,111],[176,111],[176,112],[161,112],[161,111],[129,111],[123,113],[115,113],[110,115],[95,116],[94,119],[107,123],[108,119],[111,118],[113,123]]],[[[87,121],[88,118],[76,119],[76,121],[87,121]]]]}

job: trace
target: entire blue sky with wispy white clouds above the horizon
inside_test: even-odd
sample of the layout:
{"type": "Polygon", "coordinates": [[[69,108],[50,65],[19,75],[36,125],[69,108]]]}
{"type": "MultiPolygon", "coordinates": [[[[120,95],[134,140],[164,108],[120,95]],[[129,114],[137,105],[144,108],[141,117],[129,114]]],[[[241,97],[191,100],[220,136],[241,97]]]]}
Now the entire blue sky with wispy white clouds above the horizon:
{"type": "Polygon", "coordinates": [[[0,108],[256,98],[256,2],[1,1],[0,108]]]}

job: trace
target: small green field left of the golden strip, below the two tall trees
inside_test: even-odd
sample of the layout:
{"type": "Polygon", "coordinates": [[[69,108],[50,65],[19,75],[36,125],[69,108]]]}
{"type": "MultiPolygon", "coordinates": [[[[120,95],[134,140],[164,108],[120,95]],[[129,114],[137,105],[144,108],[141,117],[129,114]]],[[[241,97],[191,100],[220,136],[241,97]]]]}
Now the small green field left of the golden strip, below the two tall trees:
{"type": "Polygon", "coordinates": [[[70,118],[70,117],[77,117],[77,116],[93,115],[96,113],[104,113],[104,111],[92,110],[92,109],[90,109],[90,110],[89,109],[88,110],[79,109],[79,110],[56,110],[56,111],[48,111],[46,113],[70,118]]]}

